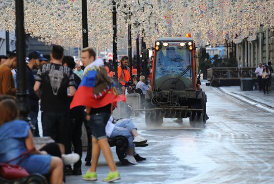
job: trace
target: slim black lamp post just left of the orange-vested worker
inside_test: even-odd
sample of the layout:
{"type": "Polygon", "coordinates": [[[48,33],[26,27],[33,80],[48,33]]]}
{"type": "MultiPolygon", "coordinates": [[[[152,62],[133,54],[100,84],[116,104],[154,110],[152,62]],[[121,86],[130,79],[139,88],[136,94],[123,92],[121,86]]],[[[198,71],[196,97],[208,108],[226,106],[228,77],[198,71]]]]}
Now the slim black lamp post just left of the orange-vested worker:
{"type": "Polygon", "coordinates": [[[113,68],[114,76],[113,80],[118,84],[118,75],[117,75],[117,11],[116,11],[116,1],[112,0],[112,24],[113,24],[113,68]]]}

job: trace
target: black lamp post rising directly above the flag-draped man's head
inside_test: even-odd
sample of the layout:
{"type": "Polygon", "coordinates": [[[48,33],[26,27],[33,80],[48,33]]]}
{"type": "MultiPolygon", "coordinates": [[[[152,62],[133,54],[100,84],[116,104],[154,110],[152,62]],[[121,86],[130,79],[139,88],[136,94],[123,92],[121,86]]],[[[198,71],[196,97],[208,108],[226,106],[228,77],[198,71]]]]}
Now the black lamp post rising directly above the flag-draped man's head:
{"type": "Polygon", "coordinates": [[[87,0],[82,0],[83,48],[89,46],[87,0]]]}

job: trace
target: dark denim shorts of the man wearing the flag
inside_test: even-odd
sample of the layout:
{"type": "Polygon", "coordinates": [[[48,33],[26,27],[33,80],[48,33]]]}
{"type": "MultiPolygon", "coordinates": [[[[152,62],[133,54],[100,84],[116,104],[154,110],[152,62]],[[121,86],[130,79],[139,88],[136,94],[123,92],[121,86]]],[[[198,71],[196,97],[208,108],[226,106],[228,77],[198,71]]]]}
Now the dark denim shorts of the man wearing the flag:
{"type": "Polygon", "coordinates": [[[106,125],[110,116],[111,114],[106,112],[90,114],[88,125],[92,129],[92,137],[97,140],[107,138],[106,125]]]}

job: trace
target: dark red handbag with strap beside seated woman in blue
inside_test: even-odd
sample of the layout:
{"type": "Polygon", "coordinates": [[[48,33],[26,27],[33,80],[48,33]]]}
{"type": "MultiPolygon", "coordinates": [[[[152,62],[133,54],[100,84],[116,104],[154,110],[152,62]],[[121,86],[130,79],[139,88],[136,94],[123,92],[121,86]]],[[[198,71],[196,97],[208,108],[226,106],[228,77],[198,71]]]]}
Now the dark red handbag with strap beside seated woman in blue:
{"type": "MultiPolygon", "coordinates": [[[[34,150],[34,149],[32,149],[34,150]]],[[[32,151],[25,151],[19,156],[5,162],[5,163],[0,163],[0,177],[6,180],[16,180],[20,179],[23,177],[29,176],[28,172],[19,166],[19,164],[26,158],[26,156],[32,151]],[[11,161],[14,161],[20,157],[23,157],[22,159],[19,160],[19,162],[16,165],[13,164],[8,164],[11,161]]]]}

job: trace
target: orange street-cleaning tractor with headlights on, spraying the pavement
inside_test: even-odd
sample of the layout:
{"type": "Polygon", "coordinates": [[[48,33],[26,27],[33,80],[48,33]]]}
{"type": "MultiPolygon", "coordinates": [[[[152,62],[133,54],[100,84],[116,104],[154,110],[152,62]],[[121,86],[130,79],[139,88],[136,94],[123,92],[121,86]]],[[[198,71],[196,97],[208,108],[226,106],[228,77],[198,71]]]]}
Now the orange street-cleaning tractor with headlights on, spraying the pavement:
{"type": "Polygon", "coordinates": [[[199,58],[205,48],[196,47],[191,35],[159,38],[147,49],[152,59],[151,90],[145,94],[145,123],[158,126],[163,118],[188,118],[192,127],[206,123],[206,94],[201,89],[199,58]]]}

